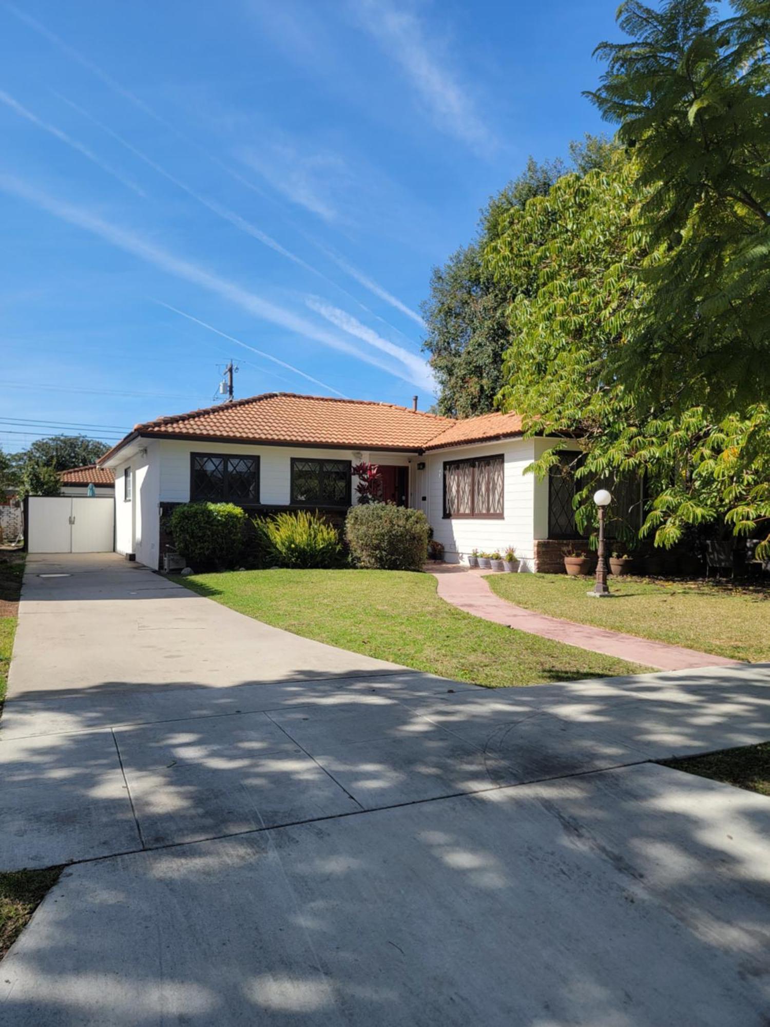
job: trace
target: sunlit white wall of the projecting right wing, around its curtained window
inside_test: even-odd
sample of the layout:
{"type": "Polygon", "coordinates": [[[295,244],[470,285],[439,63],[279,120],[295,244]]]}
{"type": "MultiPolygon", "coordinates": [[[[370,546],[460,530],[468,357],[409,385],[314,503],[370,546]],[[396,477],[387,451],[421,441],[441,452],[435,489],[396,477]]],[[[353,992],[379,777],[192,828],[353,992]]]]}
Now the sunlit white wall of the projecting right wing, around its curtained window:
{"type": "MultiPolygon", "coordinates": [[[[425,512],[433,528],[433,537],[444,544],[448,563],[467,563],[471,549],[501,553],[512,545],[516,550],[521,571],[534,569],[535,535],[535,484],[534,474],[524,469],[534,458],[533,440],[513,439],[483,446],[463,446],[458,449],[439,450],[421,459],[426,463],[427,509],[425,512]],[[444,464],[451,460],[464,460],[479,456],[503,454],[503,517],[502,518],[445,518],[444,517],[444,464]]],[[[546,483],[547,488],[547,483],[546,483]]],[[[417,497],[419,500],[421,497],[417,497]]],[[[538,502],[541,497],[538,495],[538,502]]],[[[546,529],[547,529],[547,491],[546,529]]],[[[422,505],[414,502],[413,505],[422,505]]],[[[545,537],[545,536],[543,536],[545,537]]]]}

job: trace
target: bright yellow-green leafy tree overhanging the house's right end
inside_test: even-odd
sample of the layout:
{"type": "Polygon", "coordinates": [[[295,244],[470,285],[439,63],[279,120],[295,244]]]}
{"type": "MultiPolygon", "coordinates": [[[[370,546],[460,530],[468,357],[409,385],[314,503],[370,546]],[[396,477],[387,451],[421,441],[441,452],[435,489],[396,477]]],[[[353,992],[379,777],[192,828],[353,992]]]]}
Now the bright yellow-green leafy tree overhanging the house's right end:
{"type": "MultiPolygon", "coordinates": [[[[500,405],[519,412],[530,434],[581,440],[573,468],[581,527],[593,523],[596,485],[631,476],[646,481],[643,534],[657,544],[711,522],[766,537],[767,408],[716,419],[668,400],[640,411],[612,371],[652,288],[645,268],[660,259],[660,244],[634,223],[638,176],[620,152],[607,168],[563,176],[546,196],[507,214],[485,255],[490,273],[516,294],[500,405]]],[[[534,469],[546,473],[560,448],[534,469]]]]}

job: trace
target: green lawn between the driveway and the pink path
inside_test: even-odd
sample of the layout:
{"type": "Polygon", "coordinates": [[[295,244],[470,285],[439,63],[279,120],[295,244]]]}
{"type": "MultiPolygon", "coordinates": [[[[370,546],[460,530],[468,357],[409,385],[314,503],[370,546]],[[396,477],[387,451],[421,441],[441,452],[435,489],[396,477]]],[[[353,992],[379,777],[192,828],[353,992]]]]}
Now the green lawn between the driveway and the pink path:
{"type": "Polygon", "coordinates": [[[429,574],[269,570],[176,580],[296,635],[478,685],[649,670],[472,617],[439,599],[429,574]]]}

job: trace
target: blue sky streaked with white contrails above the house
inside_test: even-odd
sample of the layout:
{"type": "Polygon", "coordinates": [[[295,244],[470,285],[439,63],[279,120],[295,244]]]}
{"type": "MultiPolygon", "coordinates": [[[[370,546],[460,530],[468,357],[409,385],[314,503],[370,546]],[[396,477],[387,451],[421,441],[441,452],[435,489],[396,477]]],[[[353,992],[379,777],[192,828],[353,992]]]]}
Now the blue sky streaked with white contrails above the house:
{"type": "Polygon", "coordinates": [[[0,446],[265,391],[433,402],[431,267],[603,125],[615,0],[0,0],[0,446]],[[63,429],[64,430],[64,429],[63,429]]]}

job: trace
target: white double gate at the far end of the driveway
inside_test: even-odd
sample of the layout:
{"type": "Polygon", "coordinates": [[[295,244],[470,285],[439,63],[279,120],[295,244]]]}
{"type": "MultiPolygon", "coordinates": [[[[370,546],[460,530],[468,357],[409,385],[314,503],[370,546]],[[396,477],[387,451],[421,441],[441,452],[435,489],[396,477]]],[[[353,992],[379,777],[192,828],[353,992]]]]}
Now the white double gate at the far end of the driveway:
{"type": "Polygon", "coordinates": [[[30,496],[30,553],[112,553],[115,500],[103,496],[30,496]]]}

